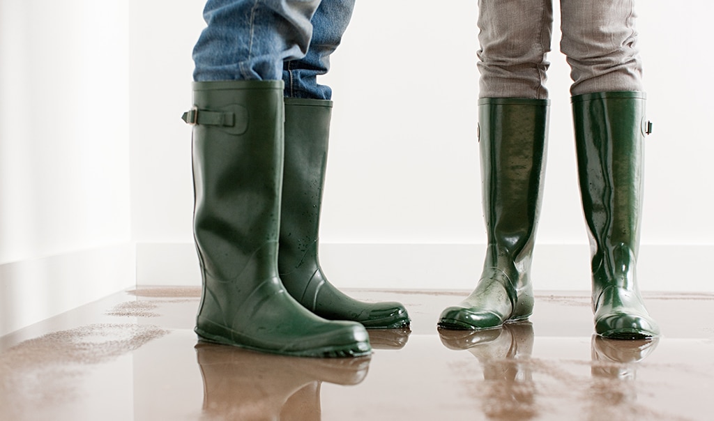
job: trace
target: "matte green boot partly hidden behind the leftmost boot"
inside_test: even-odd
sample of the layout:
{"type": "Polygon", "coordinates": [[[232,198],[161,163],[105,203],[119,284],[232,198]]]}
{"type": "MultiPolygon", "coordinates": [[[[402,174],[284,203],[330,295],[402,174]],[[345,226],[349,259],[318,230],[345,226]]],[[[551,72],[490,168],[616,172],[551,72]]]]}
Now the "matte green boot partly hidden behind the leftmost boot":
{"type": "Polygon", "coordinates": [[[368,329],[402,328],[401,303],[363,303],[335,288],[318,260],[332,101],[285,98],[285,164],[278,270],[288,292],[329,320],[352,320],[368,329]]]}

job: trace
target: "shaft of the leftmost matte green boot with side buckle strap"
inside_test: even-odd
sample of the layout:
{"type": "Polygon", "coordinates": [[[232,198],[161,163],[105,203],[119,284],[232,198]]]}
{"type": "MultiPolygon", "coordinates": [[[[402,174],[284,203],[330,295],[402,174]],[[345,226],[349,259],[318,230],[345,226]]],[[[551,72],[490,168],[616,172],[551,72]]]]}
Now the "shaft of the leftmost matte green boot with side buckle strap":
{"type": "Polygon", "coordinates": [[[282,81],[193,84],[193,232],[214,278],[276,276],[282,88],[282,81]]]}

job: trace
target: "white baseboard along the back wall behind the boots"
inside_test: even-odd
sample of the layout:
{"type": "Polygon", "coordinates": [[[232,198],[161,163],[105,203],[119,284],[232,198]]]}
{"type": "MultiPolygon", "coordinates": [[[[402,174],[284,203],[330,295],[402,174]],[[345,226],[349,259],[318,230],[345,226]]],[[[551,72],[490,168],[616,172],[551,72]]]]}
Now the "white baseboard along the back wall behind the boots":
{"type": "MultiPolygon", "coordinates": [[[[193,243],[142,243],[136,247],[138,285],[201,285],[193,243]]],[[[471,290],[483,265],[485,245],[323,243],[320,260],[331,283],[340,288],[471,290]]],[[[693,263],[708,262],[714,245],[642,245],[638,262],[644,291],[714,292],[693,263]],[[694,273],[694,275],[690,275],[694,273]]],[[[536,290],[590,289],[588,245],[536,245],[536,290]]]]}

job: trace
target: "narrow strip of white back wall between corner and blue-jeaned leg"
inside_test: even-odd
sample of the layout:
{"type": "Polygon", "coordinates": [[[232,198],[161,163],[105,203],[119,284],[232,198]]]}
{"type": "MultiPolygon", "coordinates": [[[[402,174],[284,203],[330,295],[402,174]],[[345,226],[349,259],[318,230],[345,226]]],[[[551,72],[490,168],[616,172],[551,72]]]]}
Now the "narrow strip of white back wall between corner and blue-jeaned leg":
{"type": "Polygon", "coordinates": [[[131,237],[192,241],[191,49],[203,1],[129,1],[131,237]]]}

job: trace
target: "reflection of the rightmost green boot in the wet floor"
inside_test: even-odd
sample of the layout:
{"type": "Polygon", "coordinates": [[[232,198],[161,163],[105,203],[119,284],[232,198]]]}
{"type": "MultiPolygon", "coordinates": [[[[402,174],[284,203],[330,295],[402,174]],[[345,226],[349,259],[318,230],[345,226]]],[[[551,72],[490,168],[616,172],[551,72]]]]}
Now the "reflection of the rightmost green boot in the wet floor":
{"type": "Polygon", "coordinates": [[[618,419],[628,413],[643,415],[642,408],[636,405],[637,365],[657,348],[658,342],[658,338],[615,340],[593,335],[590,343],[593,384],[588,397],[593,417],[600,420],[608,414],[618,419]]]}

